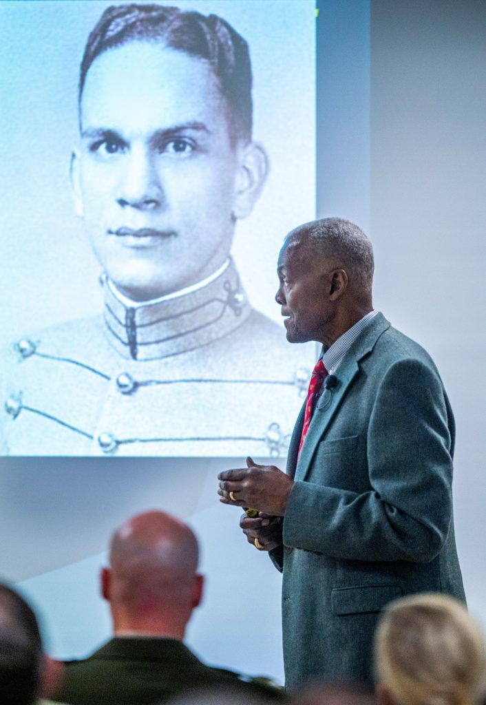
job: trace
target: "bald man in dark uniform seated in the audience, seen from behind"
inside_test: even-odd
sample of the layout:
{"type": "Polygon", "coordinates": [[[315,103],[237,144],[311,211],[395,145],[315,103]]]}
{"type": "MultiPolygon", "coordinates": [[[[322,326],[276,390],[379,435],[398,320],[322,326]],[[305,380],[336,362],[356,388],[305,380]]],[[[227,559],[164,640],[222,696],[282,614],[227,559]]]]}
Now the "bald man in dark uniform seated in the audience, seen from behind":
{"type": "Polygon", "coordinates": [[[184,644],[201,601],[198,542],[183,522],[158,511],[131,517],[111,539],[102,571],[114,637],[66,664],[55,698],[72,705],[149,705],[190,689],[231,686],[279,698],[260,679],[207,666],[184,644]]]}

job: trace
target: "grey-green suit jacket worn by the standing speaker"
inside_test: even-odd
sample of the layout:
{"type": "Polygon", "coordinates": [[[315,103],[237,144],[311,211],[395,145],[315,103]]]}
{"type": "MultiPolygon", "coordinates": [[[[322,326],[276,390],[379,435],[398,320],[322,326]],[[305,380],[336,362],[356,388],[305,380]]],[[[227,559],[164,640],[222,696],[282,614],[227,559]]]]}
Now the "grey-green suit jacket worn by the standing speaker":
{"type": "Polygon", "coordinates": [[[297,462],[284,546],[286,685],[371,680],[372,635],[391,599],[442,591],[464,599],[452,519],[454,417],[417,343],[377,314],[317,402],[297,462]]]}

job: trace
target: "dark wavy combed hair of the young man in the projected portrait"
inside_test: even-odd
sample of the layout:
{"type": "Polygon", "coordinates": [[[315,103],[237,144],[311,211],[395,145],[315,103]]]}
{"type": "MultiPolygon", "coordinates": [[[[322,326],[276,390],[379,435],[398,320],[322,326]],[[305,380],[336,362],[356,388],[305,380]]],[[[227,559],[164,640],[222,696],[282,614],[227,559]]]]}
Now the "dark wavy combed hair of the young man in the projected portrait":
{"type": "Polygon", "coordinates": [[[219,82],[238,137],[250,139],[253,104],[248,44],[217,15],[152,4],[107,8],[87,39],[80,68],[79,100],[87,72],[97,56],[131,41],[164,42],[171,49],[205,59],[219,82]]]}

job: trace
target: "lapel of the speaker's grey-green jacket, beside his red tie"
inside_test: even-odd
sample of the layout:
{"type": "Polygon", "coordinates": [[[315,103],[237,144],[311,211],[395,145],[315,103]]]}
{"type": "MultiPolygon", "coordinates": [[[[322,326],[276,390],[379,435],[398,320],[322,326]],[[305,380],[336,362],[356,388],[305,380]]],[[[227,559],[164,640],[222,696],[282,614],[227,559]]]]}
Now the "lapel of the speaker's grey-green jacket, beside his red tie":
{"type": "MultiPolygon", "coordinates": [[[[390,324],[387,319],[385,319],[383,314],[377,314],[376,317],[372,319],[369,326],[365,328],[363,333],[356,339],[353,345],[351,345],[351,348],[344,356],[341,364],[339,364],[339,367],[336,370],[336,378],[338,381],[337,385],[333,389],[324,389],[324,392],[321,394],[319,400],[317,401],[314,413],[312,414],[312,420],[310,422],[307,436],[305,436],[305,441],[302,446],[302,452],[300,453],[298,463],[296,464],[297,454],[293,460],[292,467],[295,468],[295,471],[291,474],[291,477],[294,479],[303,480],[308,475],[315,448],[322,440],[322,436],[324,436],[329,424],[334,418],[334,415],[336,415],[336,412],[339,409],[344,396],[346,395],[346,391],[355,376],[358,374],[360,360],[371,352],[379,336],[381,336],[382,333],[389,328],[389,326],[390,324]]],[[[293,450],[298,427],[300,428],[300,432],[302,431],[303,410],[300,411],[298,421],[300,421],[300,424],[296,424],[296,428],[294,429],[292,436],[291,448],[289,449],[289,462],[291,460],[290,450],[293,450]]],[[[298,439],[300,440],[300,433],[298,439]]]]}

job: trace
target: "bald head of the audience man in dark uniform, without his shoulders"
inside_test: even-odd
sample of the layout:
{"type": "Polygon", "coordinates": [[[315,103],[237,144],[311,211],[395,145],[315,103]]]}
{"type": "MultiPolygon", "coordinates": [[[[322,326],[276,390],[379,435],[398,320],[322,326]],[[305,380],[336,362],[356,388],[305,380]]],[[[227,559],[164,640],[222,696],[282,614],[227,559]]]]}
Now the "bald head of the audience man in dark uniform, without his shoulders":
{"type": "Polygon", "coordinates": [[[171,515],[150,511],[121,525],[102,570],[114,634],[182,640],[202,597],[198,556],[195,535],[171,515]]]}

